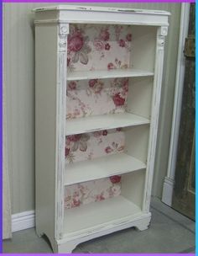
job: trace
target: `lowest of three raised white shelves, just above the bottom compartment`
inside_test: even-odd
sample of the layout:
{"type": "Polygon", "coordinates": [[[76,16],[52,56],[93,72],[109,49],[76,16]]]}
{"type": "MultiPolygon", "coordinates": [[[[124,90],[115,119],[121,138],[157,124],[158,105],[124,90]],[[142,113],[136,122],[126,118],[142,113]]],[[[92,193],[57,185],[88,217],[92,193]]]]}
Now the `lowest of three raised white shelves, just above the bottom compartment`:
{"type": "Polygon", "coordinates": [[[146,168],[145,163],[125,153],[77,163],[65,163],[65,185],[130,173],[143,168],[146,168]]]}

